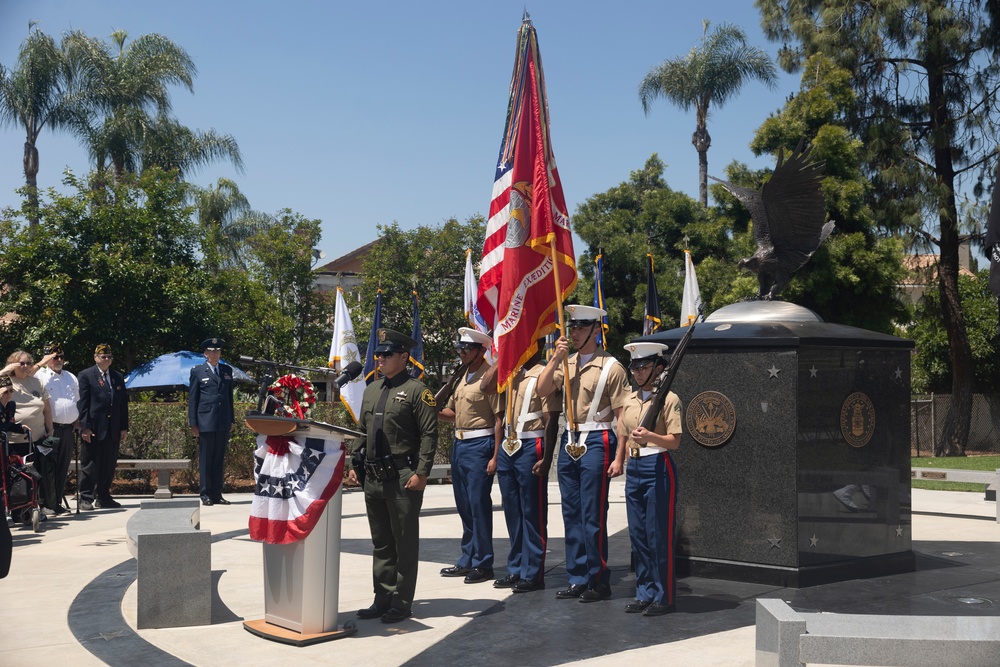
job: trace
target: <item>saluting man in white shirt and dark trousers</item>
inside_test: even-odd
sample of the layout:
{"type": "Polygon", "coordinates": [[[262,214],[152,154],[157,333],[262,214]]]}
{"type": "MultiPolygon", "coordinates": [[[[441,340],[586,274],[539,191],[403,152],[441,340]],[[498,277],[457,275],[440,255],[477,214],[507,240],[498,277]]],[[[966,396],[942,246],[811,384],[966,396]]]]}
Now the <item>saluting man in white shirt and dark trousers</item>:
{"type": "Polygon", "coordinates": [[[49,343],[42,350],[42,355],[41,361],[36,365],[38,370],[35,372],[35,377],[48,392],[53,435],[59,440],[58,450],[52,453],[56,467],[57,502],[52,509],[56,514],[62,514],[68,511],[61,500],[66,490],[66,480],[69,478],[69,463],[73,459],[73,433],[80,430],[80,410],[76,405],[80,400],[80,383],[75,375],[63,369],[65,355],[62,343],[49,343]]]}

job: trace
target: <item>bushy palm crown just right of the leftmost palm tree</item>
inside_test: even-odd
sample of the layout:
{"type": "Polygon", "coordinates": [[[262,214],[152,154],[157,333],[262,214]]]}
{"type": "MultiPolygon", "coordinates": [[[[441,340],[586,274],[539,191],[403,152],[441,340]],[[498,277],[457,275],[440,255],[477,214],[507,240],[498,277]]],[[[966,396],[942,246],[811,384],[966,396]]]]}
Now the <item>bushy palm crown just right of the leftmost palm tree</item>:
{"type": "Polygon", "coordinates": [[[110,166],[115,179],[151,166],[186,171],[218,158],[239,170],[236,140],[210,130],[190,130],[170,117],[171,85],[194,91],[197,73],[187,52],[162,35],[143,35],[126,45],[116,30],[112,44],[71,32],[72,67],[92,95],[91,114],[76,125],[98,172],[110,166]]]}

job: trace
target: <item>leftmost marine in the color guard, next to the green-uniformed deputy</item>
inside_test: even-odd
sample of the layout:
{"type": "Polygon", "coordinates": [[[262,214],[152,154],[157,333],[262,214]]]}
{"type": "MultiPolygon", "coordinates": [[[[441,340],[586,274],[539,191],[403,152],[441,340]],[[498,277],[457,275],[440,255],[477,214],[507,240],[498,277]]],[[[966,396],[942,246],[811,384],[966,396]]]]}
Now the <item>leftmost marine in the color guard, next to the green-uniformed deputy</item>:
{"type": "Polygon", "coordinates": [[[486,351],[492,344],[493,339],[487,334],[468,327],[458,329],[455,349],[462,372],[448,405],[438,413],[443,421],[455,424],[451,482],[455,507],[462,521],[461,554],[453,566],[441,570],[441,575],[465,577],[467,584],[493,579],[493,500],[490,493],[500,440],[500,423],[496,417],[500,399],[496,392],[486,393],[480,386],[490,370],[486,351]]]}

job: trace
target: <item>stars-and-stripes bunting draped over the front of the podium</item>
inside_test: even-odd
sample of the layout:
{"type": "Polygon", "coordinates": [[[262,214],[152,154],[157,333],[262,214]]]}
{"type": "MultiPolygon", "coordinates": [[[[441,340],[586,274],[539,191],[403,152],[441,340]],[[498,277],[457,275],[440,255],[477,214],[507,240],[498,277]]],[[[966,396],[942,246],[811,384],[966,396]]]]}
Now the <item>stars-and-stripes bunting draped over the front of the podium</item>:
{"type": "Polygon", "coordinates": [[[343,479],[343,442],[258,435],[250,539],[268,544],[305,539],[343,479]]]}

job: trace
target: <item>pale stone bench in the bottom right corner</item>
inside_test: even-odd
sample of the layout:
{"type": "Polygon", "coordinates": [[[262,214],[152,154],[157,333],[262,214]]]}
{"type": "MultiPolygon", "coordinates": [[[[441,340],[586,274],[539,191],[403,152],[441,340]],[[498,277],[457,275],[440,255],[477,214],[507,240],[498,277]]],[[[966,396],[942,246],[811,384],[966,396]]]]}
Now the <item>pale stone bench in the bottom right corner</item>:
{"type": "Polygon", "coordinates": [[[758,599],[755,658],[757,667],[995,667],[1000,617],[800,613],[758,599]]]}

